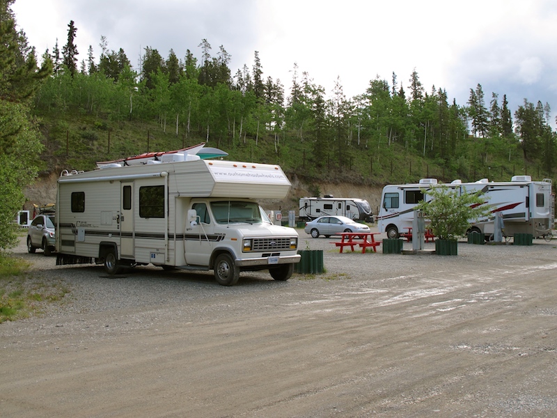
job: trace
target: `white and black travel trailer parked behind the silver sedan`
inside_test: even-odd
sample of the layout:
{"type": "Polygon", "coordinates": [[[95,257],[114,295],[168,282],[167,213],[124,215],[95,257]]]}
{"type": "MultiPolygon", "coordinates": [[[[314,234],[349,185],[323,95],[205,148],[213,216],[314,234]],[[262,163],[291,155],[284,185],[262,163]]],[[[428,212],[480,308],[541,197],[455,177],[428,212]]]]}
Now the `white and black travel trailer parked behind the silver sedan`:
{"type": "Polygon", "coordinates": [[[373,222],[368,201],[345,197],[302,197],[299,202],[299,219],[311,221],[320,216],[345,216],[354,221],[373,222]]]}

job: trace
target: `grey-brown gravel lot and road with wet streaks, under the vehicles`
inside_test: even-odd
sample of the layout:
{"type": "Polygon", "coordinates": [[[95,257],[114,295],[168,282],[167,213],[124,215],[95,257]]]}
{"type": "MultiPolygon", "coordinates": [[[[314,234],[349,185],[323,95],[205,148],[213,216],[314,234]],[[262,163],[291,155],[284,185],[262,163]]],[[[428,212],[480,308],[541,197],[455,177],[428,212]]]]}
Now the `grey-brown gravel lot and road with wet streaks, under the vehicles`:
{"type": "Polygon", "coordinates": [[[557,416],[557,242],[339,254],[299,233],[324,274],[233,287],[56,266],[22,240],[70,293],[0,324],[0,416],[557,416]]]}

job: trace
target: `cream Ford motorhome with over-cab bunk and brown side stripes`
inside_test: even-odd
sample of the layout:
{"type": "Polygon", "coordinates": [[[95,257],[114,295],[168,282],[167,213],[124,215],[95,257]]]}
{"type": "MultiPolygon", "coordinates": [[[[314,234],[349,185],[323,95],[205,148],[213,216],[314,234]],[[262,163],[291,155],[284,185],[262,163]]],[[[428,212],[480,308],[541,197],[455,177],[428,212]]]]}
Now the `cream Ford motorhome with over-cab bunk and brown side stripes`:
{"type": "Polygon", "coordinates": [[[56,263],[104,263],[109,274],[148,263],[214,270],[224,286],[241,270],[290,278],[300,259],[298,234],[272,224],[253,200],[286,196],[290,181],[280,167],[182,153],[162,160],[64,172],[56,263]]]}

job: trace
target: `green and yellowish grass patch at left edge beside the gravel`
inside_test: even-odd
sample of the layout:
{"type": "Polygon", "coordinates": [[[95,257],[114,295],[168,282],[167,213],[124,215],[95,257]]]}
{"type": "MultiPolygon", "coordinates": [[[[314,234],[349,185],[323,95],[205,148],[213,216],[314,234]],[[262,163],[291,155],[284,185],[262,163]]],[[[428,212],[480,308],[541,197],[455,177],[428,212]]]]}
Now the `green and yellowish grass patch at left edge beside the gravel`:
{"type": "Polygon", "coordinates": [[[67,293],[58,281],[32,274],[21,258],[0,253],[0,323],[40,315],[67,293]]]}

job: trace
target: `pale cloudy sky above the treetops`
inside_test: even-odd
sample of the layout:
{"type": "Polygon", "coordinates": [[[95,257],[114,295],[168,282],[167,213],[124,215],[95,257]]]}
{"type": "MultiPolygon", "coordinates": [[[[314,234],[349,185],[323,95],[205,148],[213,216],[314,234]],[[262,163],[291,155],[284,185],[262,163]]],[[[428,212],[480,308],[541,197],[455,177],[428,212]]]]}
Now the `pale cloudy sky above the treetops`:
{"type": "MultiPolygon", "coordinates": [[[[79,61],[123,48],[137,68],[145,47],[198,59],[204,38],[232,56],[230,70],[253,65],[281,79],[308,72],[330,95],[337,77],[347,98],[393,72],[408,91],[416,69],[426,91],[444,88],[464,105],[470,88],[506,94],[514,112],[524,98],[557,111],[557,1],[554,0],[16,0],[17,25],[40,56],[77,27],[79,61]]],[[[554,122],[554,121],[552,121],[554,122]]]]}

